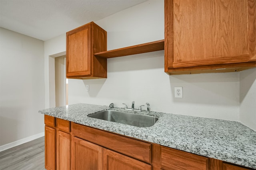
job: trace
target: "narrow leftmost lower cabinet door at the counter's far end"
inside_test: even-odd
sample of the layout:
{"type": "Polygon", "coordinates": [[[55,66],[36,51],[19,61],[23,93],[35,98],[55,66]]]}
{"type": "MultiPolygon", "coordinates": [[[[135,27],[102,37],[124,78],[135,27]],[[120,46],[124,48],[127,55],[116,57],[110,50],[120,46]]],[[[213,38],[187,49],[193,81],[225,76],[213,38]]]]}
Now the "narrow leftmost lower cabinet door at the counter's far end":
{"type": "Polygon", "coordinates": [[[45,126],[45,168],[47,170],[55,170],[55,132],[56,130],[45,126]]]}

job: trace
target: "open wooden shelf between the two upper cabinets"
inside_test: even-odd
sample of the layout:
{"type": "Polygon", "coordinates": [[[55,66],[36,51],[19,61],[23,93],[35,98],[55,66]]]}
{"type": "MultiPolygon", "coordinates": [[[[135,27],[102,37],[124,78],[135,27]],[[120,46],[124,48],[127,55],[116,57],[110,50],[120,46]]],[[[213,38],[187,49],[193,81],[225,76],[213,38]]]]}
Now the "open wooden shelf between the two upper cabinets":
{"type": "Polygon", "coordinates": [[[113,57],[122,57],[126,55],[148,53],[148,52],[160,51],[160,50],[164,50],[164,39],[159,41],[153,41],[150,43],[144,43],[139,45],[133,45],[130,47],[124,47],[120,49],[94,53],[94,55],[97,57],[113,58],[113,57]]]}

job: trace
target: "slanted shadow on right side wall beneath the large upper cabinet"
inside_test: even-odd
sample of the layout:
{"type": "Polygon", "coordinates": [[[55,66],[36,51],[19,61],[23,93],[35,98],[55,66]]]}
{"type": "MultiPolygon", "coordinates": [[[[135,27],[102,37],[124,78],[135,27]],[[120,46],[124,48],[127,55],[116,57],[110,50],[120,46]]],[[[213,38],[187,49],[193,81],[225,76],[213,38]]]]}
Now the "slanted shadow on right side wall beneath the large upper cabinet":
{"type": "MultiPolygon", "coordinates": [[[[240,102],[242,102],[248,94],[253,84],[256,86],[256,68],[244,70],[240,72],[240,102]],[[254,83],[255,82],[255,83],[254,83]]],[[[256,91],[256,87],[254,87],[256,91]]]]}

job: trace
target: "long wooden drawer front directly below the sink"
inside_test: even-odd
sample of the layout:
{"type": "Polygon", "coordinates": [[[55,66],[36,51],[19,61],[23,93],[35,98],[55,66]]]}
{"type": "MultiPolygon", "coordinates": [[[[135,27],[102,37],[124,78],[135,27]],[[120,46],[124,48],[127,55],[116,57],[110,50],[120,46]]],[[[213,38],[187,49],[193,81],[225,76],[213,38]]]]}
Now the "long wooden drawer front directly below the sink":
{"type": "Polygon", "coordinates": [[[72,135],[151,163],[151,144],[71,122],[72,135]]]}

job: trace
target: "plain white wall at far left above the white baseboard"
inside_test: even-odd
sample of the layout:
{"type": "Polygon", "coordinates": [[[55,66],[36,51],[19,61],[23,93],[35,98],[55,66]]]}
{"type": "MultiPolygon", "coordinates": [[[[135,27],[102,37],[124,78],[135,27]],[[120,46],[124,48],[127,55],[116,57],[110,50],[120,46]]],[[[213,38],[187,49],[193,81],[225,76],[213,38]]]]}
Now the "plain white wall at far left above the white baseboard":
{"type": "Polygon", "coordinates": [[[0,28],[0,146],[44,132],[44,42],[0,28]]]}

